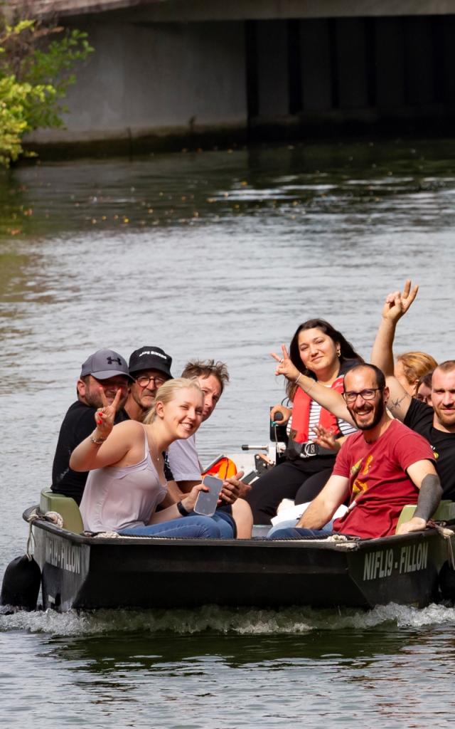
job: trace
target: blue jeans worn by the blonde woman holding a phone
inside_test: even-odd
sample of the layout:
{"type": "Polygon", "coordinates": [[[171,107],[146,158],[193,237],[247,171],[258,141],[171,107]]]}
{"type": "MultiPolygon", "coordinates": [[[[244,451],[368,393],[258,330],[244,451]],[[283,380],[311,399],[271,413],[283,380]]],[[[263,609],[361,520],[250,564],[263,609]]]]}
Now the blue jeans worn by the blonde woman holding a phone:
{"type": "Polygon", "coordinates": [[[223,519],[197,514],[158,524],[129,526],[119,531],[122,537],[180,537],[181,539],[232,539],[232,526],[223,519]]]}

